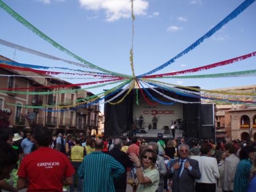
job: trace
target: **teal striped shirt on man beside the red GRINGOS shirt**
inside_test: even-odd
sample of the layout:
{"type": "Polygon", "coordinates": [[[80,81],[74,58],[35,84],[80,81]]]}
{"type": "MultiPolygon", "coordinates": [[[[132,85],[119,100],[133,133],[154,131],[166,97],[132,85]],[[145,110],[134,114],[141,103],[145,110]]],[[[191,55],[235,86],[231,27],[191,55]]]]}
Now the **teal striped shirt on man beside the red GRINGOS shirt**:
{"type": "Polygon", "coordinates": [[[102,152],[86,155],[78,170],[84,179],[82,191],[114,192],[114,180],[125,172],[123,166],[112,156],[102,152]]]}

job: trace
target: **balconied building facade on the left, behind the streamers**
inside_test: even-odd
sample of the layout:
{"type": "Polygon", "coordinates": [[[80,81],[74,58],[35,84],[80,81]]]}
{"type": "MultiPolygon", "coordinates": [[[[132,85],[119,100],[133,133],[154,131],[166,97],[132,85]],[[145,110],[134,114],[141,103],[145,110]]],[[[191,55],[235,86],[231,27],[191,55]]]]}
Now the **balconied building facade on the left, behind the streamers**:
{"type": "MultiPolygon", "coordinates": [[[[0,56],[0,60],[12,61],[3,56],[0,56]]],[[[77,102],[85,101],[86,97],[93,95],[89,91],[81,90],[79,86],[61,87],[61,85],[70,83],[46,74],[4,68],[0,68],[0,74],[5,75],[0,76],[0,88],[2,89],[28,87],[30,89],[18,91],[40,93],[18,94],[17,90],[0,92],[0,108],[11,111],[9,127],[14,131],[30,129],[37,124],[51,128],[52,132],[84,132],[88,135],[93,128],[98,130],[97,121],[100,111],[98,105],[74,108],[79,106],[77,102]],[[14,77],[13,75],[25,77],[14,77]],[[33,76],[33,78],[26,76],[33,76]],[[36,76],[40,76],[40,78],[36,76]],[[43,86],[58,87],[51,89],[51,87],[43,86]],[[41,94],[42,92],[46,94],[41,94]],[[78,99],[79,101],[77,101],[78,99]],[[24,107],[25,105],[32,107],[24,107]],[[56,111],[60,109],[56,105],[59,105],[63,111],[56,111]]]]}

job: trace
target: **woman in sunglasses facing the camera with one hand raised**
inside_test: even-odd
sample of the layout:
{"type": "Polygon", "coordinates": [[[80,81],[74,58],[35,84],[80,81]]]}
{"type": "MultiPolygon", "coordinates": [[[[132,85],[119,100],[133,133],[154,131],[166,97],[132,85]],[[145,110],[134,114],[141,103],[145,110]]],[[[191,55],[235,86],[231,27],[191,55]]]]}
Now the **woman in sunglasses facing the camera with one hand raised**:
{"type": "Polygon", "coordinates": [[[134,153],[129,157],[137,169],[137,192],[156,191],[159,182],[159,172],[155,169],[156,153],[152,149],[145,149],[139,158],[134,153]]]}

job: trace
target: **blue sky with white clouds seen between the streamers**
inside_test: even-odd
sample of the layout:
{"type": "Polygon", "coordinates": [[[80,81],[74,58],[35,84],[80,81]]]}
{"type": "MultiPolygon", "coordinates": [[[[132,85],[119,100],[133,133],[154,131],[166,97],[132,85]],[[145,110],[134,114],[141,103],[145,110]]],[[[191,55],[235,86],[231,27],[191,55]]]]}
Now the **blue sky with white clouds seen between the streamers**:
{"type": "MultiPolygon", "coordinates": [[[[131,74],[129,0],[3,0],[44,34],[102,68],[131,74]]],[[[135,0],[134,68],[139,75],[162,65],[204,35],[242,0],[135,0]]],[[[256,2],[216,34],[158,73],[195,68],[256,51],[256,2]]],[[[0,39],[67,60],[65,55],[0,9],[0,39]]],[[[76,66],[43,59],[0,45],[0,55],[18,62],[76,66]]],[[[256,58],[190,74],[255,69],[256,58]]],[[[81,69],[81,68],[79,68],[81,69]]],[[[156,74],[158,74],[156,73],[156,74]]],[[[255,77],[162,80],[204,89],[256,84],[255,77]]],[[[90,81],[90,80],[84,80],[90,81]]],[[[72,83],[84,82],[73,80],[72,83]]],[[[104,87],[108,89],[109,87],[104,87]]],[[[91,90],[99,93],[102,89],[91,90]]]]}

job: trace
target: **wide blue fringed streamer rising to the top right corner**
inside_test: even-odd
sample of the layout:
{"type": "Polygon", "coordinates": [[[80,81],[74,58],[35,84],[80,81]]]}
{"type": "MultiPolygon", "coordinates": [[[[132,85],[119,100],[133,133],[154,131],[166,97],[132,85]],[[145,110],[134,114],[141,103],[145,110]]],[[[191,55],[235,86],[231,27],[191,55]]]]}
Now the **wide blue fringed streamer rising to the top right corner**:
{"type": "Polygon", "coordinates": [[[255,0],[245,0],[244,2],[241,3],[240,6],[238,6],[234,11],[232,11],[228,16],[226,16],[226,18],[222,19],[220,23],[218,23],[216,26],[214,26],[210,31],[208,31],[205,35],[203,35],[202,37],[200,37],[199,39],[197,39],[195,41],[195,43],[193,43],[192,45],[190,45],[188,48],[186,48],[184,51],[180,52],[178,55],[176,55],[174,58],[172,58],[171,60],[167,61],[166,63],[164,63],[163,65],[158,66],[158,68],[155,68],[153,70],[151,70],[150,72],[141,74],[140,76],[137,77],[143,77],[143,76],[147,76],[148,74],[152,74],[157,72],[158,70],[161,70],[163,68],[165,68],[166,66],[172,64],[172,62],[174,62],[176,59],[178,59],[179,57],[185,55],[186,53],[188,53],[189,51],[192,51],[192,49],[194,49],[195,47],[197,47],[197,45],[200,45],[201,43],[203,43],[203,41],[207,38],[209,38],[210,36],[212,36],[215,32],[217,32],[218,30],[220,30],[221,27],[223,27],[226,23],[228,23],[230,20],[236,18],[236,16],[238,16],[242,11],[244,11],[247,7],[249,7],[251,5],[251,3],[253,3],[255,0]]]}

